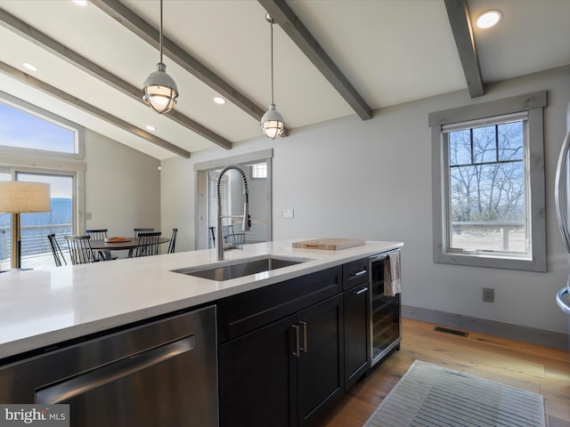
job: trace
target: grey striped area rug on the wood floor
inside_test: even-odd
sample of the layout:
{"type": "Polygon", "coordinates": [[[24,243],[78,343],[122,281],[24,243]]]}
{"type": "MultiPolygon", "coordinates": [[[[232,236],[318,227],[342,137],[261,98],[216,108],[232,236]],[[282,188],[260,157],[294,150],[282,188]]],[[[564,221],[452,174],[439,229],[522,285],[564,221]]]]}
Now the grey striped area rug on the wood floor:
{"type": "Polygon", "coordinates": [[[544,427],[544,397],[415,360],[364,427],[544,427]]]}

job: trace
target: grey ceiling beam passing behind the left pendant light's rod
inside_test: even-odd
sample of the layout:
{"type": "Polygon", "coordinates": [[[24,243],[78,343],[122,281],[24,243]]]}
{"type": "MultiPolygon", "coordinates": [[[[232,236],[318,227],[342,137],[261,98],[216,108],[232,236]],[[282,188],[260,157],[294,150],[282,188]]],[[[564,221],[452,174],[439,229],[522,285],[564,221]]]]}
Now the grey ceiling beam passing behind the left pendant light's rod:
{"type": "MultiPolygon", "coordinates": [[[[131,30],[136,36],[141,37],[142,40],[159,49],[159,30],[152,27],[146,20],[142,20],[140,16],[126,7],[125,4],[121,4],[117,0],[91,0],[90,3],[131,30]]],[[[190,53],[185,52],[183,48],[164,35],[162,37],[162,51],[170,60],[173,60],[192,76],[198,78],[199,81],[214,89],[249,116],[255,118],[256,121],[259,121],[265,114],[265,110],[259,108],[254,101],[249,100],[244,94],[224,81],[222,77],[217,76],[211,69],[207,68],[199,60],[191,56],[190,53]]]]}

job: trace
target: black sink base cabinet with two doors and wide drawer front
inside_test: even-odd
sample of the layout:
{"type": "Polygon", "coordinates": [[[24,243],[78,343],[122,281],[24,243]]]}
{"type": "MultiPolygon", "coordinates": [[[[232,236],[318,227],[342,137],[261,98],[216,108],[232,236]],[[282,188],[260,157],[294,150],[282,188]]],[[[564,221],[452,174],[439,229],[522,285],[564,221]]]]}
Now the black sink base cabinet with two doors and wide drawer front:
{"type": "Polygon", "coordinates": [[[218,304],[221,426],[310,425],[344,393],[341,282],[338,267],[218,304]]]}

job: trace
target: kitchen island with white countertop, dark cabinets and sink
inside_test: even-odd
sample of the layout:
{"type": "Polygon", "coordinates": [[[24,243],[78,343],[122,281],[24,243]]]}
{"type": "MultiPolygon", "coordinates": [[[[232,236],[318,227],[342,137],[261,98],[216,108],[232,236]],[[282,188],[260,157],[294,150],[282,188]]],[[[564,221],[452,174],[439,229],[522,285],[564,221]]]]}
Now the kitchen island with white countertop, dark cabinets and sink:
{"type": "Polygon", "coordinates": [[[370,257],[403,244],[292,243],[3,273],[0,403],[68,404],[81,427],[313,425],[370,367],[370,257]]]}

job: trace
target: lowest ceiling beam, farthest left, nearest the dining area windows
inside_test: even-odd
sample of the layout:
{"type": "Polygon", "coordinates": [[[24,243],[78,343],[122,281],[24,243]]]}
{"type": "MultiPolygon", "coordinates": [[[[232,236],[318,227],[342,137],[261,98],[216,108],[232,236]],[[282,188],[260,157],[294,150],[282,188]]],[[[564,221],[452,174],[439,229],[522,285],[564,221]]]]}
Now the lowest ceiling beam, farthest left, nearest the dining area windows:
{"type": "Polygon", "coordinates": [[[143,131],[137,126],[131,125],[127,123],[125,120],[121,120],[118,117],[115,117],[108,113],[107,111],[103,111],[102,109],[98,109],[94,105],[88,104],[85,101],[76,98],[75,96],[61,91],[57,87],[52,85],[48,85],[45,82],[37,79],[36,77],[31,77],[28,74],[20,71],[18,68],[13,68],[11,65],[6,64],[5,62],[0,61],[0,72],[3,72],[5,75],[16,78],[31,87],[34,87],[44,93],[47,93],[54,98],[57,98],[61,101],[67,102],[68,104],[76,107],[77,109],[81,109],[95,117],[99,117],[106,122],[109,122],[111,125],[116,125],[119,128],[125,130],[128,133],[133,133],[134,135],[152,142],[153,144],[158,145],[162,149],[167,149],[168,151],[177,154],[178,156],[189,158],[190,152],[185,149],[181,149],[180,147],[172,144],[171,142],[165,141],[152,133],[148,133],[143,131]]]}

